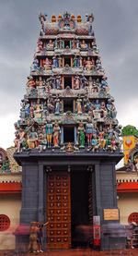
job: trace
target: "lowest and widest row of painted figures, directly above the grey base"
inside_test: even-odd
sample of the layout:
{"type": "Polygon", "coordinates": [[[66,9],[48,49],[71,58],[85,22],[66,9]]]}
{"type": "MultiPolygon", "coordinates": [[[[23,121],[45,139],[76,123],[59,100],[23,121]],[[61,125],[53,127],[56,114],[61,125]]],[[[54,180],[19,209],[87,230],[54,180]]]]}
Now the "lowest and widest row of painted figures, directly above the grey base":
{"type": "Polygon", "coordinates": [[[74,141],[63,141],[65,136],[63,125],[58,121],[52,123],[47,118],[45,124],[38,125],[29,121],[27,126],[15,124],[16,138],[14,140],[17,152],[37,149],[40,152],[49,148],[65,149],[67,142],[73,143],[75,150],[86,149],[86,152],[116,152],[121,150],[121,127],[118,125],[103,126],[94,124],[91,118],[86,123],[80,121],[74,126],[74,141]]]}

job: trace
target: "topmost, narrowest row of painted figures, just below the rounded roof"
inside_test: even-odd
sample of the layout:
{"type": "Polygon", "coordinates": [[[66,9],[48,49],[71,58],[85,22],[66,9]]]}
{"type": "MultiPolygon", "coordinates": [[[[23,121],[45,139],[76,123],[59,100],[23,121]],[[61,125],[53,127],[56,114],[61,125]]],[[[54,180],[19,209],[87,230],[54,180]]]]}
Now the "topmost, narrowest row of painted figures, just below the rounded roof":
{"type": "Polygon", "coordinates": [[[47,42],[42,42],[40,38],[37,42],[37,48],[35,51],[35,55],[41,54],[45,55],[46,51],[55,51],[55,50],[63,50],[63,49],[70,49],[70,50],[80,50],[80,51],[89,51],[91,50],[94,55],[98,55],[98,47],[96,40],[89,41],[86,43],[86,40],[63,40],[62,38],[56,38],[54,41],[50,39],[47,42]]]}

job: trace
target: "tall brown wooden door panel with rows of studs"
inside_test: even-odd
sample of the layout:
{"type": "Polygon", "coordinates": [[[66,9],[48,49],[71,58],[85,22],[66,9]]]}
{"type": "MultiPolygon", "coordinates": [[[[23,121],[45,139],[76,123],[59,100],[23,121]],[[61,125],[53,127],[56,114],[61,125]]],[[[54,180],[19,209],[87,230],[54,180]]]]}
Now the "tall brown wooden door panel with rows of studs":
{"type": "Polygon", "coordinates": [[[70,174],[52,172],[47,176],[47,248],[71,247],[70,174]]]}

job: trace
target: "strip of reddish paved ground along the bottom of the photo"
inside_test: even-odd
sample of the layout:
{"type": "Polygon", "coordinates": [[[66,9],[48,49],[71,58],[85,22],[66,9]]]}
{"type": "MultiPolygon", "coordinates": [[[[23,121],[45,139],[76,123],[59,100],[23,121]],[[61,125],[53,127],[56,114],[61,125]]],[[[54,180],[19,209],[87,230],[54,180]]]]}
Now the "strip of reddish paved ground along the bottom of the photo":
{"type": "Polygon", "coordinates": [[[111,250],[111,251],[97,251],[97,250],[54,250],[43,253],[16,253],[14,251],[0,250],[0,256],[138,256],[138,249],[134,250],[111,250]]]}

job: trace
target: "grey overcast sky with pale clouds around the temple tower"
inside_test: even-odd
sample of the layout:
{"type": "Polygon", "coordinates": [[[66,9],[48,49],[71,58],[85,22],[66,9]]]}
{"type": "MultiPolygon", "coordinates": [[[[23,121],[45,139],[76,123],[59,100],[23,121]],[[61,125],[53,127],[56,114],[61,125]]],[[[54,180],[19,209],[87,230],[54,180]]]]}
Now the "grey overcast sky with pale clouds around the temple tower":
{"type": "Polygon", "coordinates": [[[93,29],[122,126],[138,128],[137,0],[0,0],[0,147],[14,145],[14,123],[40,32],[39,14],[93,12],[93,29]]]}

